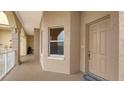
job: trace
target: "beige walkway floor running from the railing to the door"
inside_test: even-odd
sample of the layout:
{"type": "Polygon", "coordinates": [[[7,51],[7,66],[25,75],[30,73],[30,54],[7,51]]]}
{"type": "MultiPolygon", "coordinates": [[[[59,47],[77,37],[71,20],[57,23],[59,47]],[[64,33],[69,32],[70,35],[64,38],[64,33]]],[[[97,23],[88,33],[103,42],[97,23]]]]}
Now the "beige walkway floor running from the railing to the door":
{"type": "Polygon", "coordinates": [[[4,81],[80,81],[82,73],[66,75],[43,71],[40,63],[34,61],[32,55],[22,57],[21,65],[17,65],[3,79],[4,81]]]}

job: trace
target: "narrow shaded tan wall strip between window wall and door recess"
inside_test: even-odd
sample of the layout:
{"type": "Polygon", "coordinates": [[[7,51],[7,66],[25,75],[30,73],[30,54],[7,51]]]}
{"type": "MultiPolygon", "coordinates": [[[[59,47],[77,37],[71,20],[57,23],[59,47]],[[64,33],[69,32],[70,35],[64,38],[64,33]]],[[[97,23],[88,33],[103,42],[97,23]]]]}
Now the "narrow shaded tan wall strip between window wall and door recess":
{"type": "Polygon", "coordinates": [[[81,12],[71,12],[70,71],[80,71],[80,28],[81,12]]]}

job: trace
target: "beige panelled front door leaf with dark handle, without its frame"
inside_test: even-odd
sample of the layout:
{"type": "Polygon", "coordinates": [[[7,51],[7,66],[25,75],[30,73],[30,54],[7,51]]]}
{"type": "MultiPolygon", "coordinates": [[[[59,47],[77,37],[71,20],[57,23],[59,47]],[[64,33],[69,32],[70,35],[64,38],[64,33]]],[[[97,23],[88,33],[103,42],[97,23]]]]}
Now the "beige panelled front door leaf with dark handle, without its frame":
{"type": "Polygon", "coordinates": [[[89,25],[89,72],[104,79],[109,79],[108,32],[110,32],[110,18],[89,25]]]}

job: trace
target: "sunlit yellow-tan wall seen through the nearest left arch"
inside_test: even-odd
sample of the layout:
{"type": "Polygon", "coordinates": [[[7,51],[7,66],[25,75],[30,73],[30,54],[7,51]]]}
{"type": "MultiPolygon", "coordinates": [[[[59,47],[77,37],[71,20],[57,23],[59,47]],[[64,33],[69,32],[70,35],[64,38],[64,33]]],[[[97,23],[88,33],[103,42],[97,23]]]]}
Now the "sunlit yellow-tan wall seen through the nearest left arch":
{"type": "Polygon", "coordinates": [[[0,44],[2,44],[2,46],[0,46],[0,50],[4,50],[6,45],[8,46],[9,49],[11,49],[10,48],[11,40],[12,40],[11,31],[0,29],[0,44]]]}

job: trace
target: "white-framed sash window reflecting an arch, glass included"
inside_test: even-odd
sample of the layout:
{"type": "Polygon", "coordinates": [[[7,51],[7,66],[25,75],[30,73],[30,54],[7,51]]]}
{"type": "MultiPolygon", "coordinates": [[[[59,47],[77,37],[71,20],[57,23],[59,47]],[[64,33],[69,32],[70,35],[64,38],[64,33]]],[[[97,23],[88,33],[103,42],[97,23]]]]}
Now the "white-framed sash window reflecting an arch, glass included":
{"type": "Polygon", "coordinates": [[[64,28],[49,28],[49,56],[64,56],[64,28]]]}

